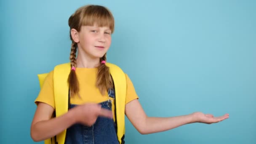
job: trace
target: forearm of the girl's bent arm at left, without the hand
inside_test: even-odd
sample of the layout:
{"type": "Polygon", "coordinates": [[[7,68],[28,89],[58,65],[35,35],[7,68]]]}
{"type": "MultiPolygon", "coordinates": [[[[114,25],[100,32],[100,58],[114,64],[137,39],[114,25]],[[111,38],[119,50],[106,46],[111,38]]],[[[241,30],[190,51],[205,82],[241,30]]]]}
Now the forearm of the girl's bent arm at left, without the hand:
{"type": "Polygon", "coordinates": [[[32,125],[31,137],[34,141],[43,141],[56,136],[75,123],[73,112],[70,110],[60,117],[54,117],[50,120],[43,120],[32,125]]]}

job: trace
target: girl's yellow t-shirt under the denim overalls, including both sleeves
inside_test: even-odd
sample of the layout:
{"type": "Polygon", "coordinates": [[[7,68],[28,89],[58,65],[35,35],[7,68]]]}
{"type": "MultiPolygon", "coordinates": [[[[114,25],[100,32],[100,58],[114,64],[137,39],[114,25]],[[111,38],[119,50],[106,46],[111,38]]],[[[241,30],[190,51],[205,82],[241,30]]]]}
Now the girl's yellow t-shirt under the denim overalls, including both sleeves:
{"type": "MultiPolygon", "coordinates": [[[[75,72],[79,82],[80,97],[77,95],[70,97],[70,104],[85,104],[87,102],[101,103],[109,99],[107,90],[104,95],[101,95],[99,89],[96,87],[97,71],[97,68],[76,68],[75,72]]],[[[134,99],[138,99],[138,96],[130,78],[127,74],[125,74],[125,76],[127,83],[125,104],[127,104],[134,99]]],[[[35,100],[36,104],[38,104],[39,102],[49,104],[55,109],[53,71],[49,72],[49,74],[45,78],[45,82],[40,90],[39,95],[37,96],[37,99],[35,100]]],[[[114,103],[112,103],[112,113],[115,120],[114,109],[115,105],[114,103]]]]}

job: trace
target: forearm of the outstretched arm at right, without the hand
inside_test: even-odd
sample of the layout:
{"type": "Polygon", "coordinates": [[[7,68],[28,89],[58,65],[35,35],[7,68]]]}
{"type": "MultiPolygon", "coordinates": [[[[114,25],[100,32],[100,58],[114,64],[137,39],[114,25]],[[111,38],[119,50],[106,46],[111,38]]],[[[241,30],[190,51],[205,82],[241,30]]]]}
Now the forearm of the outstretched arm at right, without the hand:
{"type": "Polygon", "coordinates": [[[194,123],[192,115],[182,115],[177,117],[147,117],[141,128],[141,134],[157,133],[177,128],[181,125],[194,123]]]}

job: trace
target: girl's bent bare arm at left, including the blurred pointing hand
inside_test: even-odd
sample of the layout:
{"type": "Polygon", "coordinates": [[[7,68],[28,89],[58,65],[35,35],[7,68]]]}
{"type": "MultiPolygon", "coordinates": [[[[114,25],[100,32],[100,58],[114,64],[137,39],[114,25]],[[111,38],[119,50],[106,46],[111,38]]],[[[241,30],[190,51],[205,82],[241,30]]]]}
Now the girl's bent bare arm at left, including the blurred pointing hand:
{"type": "Polygon", "coordinates": [[[87,103],[70,109],[64,115],[51,118],[53,107],[43,102],[37,106],[31,124],[30,135],[34,141],[43,141],[56,136],[75,123],[91,126],[98,116],[112,118],[112,111],[101,109],[101,105],[87,103]]]}

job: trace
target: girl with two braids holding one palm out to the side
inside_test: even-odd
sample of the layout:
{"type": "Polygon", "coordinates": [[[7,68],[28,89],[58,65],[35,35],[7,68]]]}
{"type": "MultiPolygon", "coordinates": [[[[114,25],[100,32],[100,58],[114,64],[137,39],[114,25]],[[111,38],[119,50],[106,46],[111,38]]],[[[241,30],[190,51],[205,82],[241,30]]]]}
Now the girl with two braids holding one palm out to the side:
{"type": "Polygon", "coordinates": [[[114,32],[112,13],[100,5],[86,5],[77,9],[68,23],[72,41],[70,63],[57,66],[45,78],[35,100],[37,109],[31,125],[34,141],[56,136],[52,143],[121,144],[124,143],[124,114],[141,134],[167,131],[189,123],[218,123],[229,117],[201,112],[147,117],[128,75],[120,78],[122,71],[117,72],[113,70],[117,66],[106,63],[114,32]],[[57,72],[61,67],[68,67],[67,74],[57,72]],[[118,80],[125,82],[126,89],[118,80]],[[58,87],[64,94],[59,94],[58,87]],[[121,94],[124,89],[125,94],[121,94]],[[59,109],[66,107],[66,103],[59,102],[67,98],[66,94],[68,111],[60,114],[59,109]],[[56,117],[52,117],[54,114],[56,117]]]}

